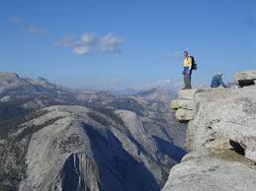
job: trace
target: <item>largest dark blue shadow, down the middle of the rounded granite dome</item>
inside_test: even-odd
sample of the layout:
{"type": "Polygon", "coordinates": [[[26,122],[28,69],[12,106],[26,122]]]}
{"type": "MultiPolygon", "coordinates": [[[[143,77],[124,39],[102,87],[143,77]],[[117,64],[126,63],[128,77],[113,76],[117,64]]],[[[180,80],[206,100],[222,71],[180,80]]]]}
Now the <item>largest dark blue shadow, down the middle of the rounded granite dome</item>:
{"type": "Polygon", "coordinates": [[[145,167],[124,150],[122,143],[109,130],[84,125],[97,161],[102,189],[105,191],[156,191],[156,179],[145,167]]]}

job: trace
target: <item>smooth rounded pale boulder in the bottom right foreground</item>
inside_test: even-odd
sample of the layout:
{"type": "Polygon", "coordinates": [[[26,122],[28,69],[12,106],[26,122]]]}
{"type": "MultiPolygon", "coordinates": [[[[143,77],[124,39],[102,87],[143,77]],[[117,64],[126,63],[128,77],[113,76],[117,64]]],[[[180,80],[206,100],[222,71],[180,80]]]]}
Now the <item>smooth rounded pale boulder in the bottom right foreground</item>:
{"type": "Polygon", "coordinates": [[[254,161],[233,151],[191,152],[175,165],[162,191],[255,190],[254,161]]]}

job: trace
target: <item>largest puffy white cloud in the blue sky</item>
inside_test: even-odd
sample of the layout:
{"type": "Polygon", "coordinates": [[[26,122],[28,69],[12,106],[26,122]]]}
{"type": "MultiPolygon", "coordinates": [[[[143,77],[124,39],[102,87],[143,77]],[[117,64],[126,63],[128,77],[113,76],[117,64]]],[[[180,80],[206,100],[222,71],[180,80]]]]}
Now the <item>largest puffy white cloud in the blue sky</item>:
{"type": "Polygon", "coordinates": [[[107,33],[98,36],[94,32],[84,32],[80,38],[74,36],[64,36],[53,42],[53,46],[71,47],[78,55],[88,55],[90,53],[120,53],[124,39],[114,33],[107,33]]]}

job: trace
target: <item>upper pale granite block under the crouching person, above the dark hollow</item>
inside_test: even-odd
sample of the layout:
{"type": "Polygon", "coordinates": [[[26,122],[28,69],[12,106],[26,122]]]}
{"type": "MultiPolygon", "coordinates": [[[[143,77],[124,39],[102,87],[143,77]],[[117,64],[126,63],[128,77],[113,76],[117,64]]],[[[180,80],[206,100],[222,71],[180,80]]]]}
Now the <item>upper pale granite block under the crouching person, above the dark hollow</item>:
{"type": "Polygon", "coordinates": [[[219,137],[239,143],[256,160],[256,87],[209,90],[196,94],[196,149],[219,137]]]}

